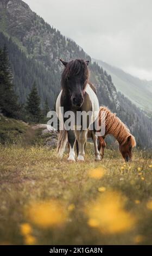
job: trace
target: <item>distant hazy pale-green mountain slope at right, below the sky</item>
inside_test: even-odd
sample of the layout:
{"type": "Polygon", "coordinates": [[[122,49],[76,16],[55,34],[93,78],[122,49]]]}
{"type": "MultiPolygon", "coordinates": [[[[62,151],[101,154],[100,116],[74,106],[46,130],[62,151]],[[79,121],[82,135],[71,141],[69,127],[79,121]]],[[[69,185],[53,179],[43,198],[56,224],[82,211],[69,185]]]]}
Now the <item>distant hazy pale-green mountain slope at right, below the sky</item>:
{"type": "Polygon", "coordinates": [[[111,66],[102,60],[95,60],[112,77],[118,92],[126,95],[137,107],[152,114],[152,82],[140,80],[125,73],[123,70],[111,66]]]}

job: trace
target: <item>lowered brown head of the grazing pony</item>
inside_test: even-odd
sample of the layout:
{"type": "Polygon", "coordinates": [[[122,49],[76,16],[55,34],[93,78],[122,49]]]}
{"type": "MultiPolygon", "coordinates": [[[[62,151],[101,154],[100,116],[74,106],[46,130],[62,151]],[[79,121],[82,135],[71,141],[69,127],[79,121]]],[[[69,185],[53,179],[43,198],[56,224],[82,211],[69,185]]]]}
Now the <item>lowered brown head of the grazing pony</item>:
{"type": "Polygon", "coordinates": [[[125,142],[119,144],[119,150],[125,160],[125,162],[132,160],[132,148],[136,147],[135,137],[129,135],[125,142]]]}

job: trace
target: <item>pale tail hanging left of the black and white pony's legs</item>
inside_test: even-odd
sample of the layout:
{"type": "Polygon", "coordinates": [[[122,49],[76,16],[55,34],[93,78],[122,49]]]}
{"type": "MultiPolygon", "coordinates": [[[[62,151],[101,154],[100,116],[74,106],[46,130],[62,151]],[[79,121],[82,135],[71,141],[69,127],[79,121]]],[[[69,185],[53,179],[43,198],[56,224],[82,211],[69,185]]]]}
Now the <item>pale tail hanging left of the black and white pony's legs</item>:
{"type": "Polygon", "coordinates": [[[65,129],[60,130],[59,137],[58,137],[58,144],[57,144],[58,157],[62,158],[62,155],[65,151],[66,144],[67,144],[67,131],[65,129]]]}

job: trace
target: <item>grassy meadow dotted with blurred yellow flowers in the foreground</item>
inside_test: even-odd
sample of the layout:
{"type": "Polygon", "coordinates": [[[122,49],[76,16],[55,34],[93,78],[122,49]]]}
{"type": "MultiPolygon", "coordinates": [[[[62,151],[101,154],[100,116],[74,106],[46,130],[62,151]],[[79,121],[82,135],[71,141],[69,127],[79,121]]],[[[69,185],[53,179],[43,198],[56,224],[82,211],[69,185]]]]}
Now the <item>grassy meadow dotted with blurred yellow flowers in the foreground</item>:
{"type": "Polygon", "coordinates": [[[66,154],[59,160],[55,150],[36,145],[26,148],[1,145],[1,244],[151,244],[152,211],[147,205],[152,199],[151,156],[151,152],[135,150],[133,161],[124,165],[117,150],[106,150],[105,159],[95,162],[92,149],[88,147],[84,163],[71,163],[66,154]],[[90,170],[96,168],[104,170],[99,179],[89,175],[90,170]],[[105,192],[99,192],[99,187],[104,187],[105,192]],[[109,193],[110,201],[106,200],[109,193]],[[36,203],[46,202],[47,205],[52,200],[59,205],[53,215],[49,206],[44,204],[40,209],[36,203]],[[98,205],[101,216],[104,212],[107,216],[115,215],[115,210],[118,214],[112,223],[106,221],[106,216],[100,220],[102,227],[105,221],[105,230],[101,225],[91,227],[88,224],[90,218],[97,217],[90,216],[94,207],[92,202],[98,205]],[[108,208],[109,204],[113,211],[108,208]],[[62,223],[58,220],[60,205],[62,223]],[[29,215],[29,209],[35,211],[35,216],[29,215]],[[34,219],[36,216],[40,217],[38,222],[34,219]],[[59,223],[52,224],[54,218],[59,223]],[[130,227],[128,222],[131,223],[132,218],[134,221],[130,227]],[[118,226],[126,222],[129,228],[117,232],[113,227],[115,222],[118,226]],[[28,223],[31,230],[21,230],[22,223],[28,223]],[[113,231],[110,233],[111,225],[113,231]]]}

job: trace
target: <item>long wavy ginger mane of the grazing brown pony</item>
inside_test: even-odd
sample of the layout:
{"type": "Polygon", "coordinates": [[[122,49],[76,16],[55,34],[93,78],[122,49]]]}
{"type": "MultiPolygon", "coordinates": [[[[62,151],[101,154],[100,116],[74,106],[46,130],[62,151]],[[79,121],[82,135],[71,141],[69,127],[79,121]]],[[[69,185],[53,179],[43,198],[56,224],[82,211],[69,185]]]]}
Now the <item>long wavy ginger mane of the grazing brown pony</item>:
{"type": "Polygon", "coordinates": [[[131,146],[136,147],[135,137],[131,135],[128,127],[118,118],[115,113],[105,106],[100,107],[99,121],[102,118],[102,113],[105,113],[105,136],[113,135],[119,144],[123,145],[127,142],[127,138],[131,136],[131,146]]]}

